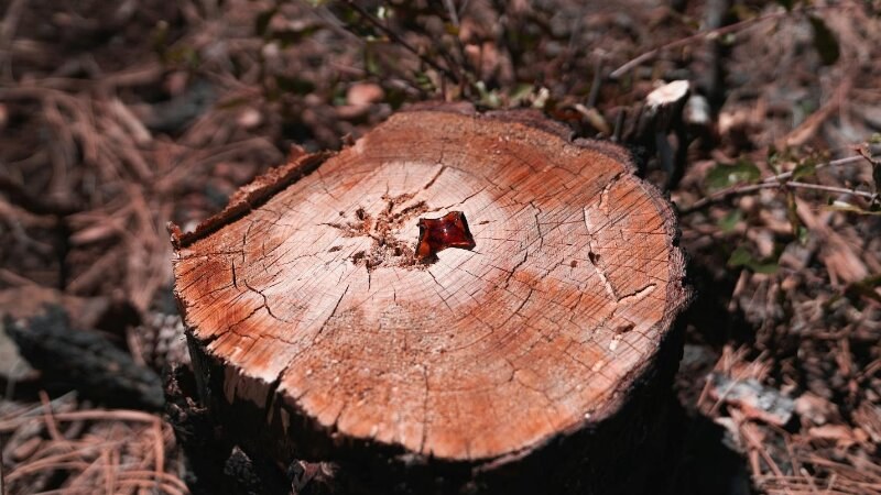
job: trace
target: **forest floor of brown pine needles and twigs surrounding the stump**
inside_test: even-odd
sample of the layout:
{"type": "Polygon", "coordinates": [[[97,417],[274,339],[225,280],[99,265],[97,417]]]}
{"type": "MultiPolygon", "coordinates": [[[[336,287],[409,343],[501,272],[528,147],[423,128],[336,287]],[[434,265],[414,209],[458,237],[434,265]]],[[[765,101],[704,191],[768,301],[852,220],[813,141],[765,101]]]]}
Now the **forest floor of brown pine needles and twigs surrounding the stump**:
{"type": "Polygon", "coordinates": [[[155,396],[187,359],[166,223],[292,145],[466,100],[623,142],[676,204],[697,298],[668,493],[881,493],[878,46],[878,1],[1,1],[0,312],[62,306],[94,336],[72,349],[140,384],[35,371],[7,320],[2,488],[187,493],[155,396]],[[685,130],[646,141],[673,80],[685,130]]]}

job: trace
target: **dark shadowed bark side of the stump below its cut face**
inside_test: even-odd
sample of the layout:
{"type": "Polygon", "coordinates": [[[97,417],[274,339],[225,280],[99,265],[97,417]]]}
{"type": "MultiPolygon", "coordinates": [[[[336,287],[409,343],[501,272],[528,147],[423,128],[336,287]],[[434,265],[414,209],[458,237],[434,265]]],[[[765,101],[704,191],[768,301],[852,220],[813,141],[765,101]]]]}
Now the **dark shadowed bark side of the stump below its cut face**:
{"type": "Polygon", "coordinates": [[[665,333],[642,373],[618,389],[616,407],[609,408],[612,414],[603,418],[596,414],[586,421],[589,425],[553,436],[520,455],[477,461],[438,460],[404,452],[400,446],[340,437],[336,429],[322,427],[274,393],[268,397],[273,415],[273,421],[268,422],[270,407],[261,409],[248,400],[225,402],[219,392],[224,388],[225,363],[208,355],[199,342],[189,343],[202,346],[199,364],[205,367],[197,367],[196,376],[207,377],[209,383],[203,386],[214,392],[208,392],[210,402],[204,404],[211,404],[209,409],[221,429],[237,425],[237,431],[227,430],[233,442],[252,457],[282,464],[296,460],[338,462],[335,484],[339,493],[626,495],[650,493],[646,483],[663,476],[660,470],[668,447],[668,406],[674,400],[671,385],[682,358],[683,334],[679,326],[665,333]],[[289,435],[280,429],[281,409],[291,417],[289,435]]]}

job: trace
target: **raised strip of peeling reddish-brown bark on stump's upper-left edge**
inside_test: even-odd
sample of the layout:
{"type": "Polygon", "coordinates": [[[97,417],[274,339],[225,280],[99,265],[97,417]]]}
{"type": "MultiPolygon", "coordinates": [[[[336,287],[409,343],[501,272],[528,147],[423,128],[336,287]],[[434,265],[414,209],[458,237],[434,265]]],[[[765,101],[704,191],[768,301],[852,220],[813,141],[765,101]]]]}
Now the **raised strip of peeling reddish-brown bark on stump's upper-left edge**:
{"type": "Polygon", "coordinates": [[[167,229],[172,238],[172,246],[175,251],[180,251],[244,217],[251,210],[264,205],[279,191],[315,172],[335,154],[333,152],[306,154],[302,148],[294,148],[286,164],[270,168],[250,184],[239,188],[222,211],[203,220],[196,230],[183,232],[174,222],[168,222],[167,229]]]}

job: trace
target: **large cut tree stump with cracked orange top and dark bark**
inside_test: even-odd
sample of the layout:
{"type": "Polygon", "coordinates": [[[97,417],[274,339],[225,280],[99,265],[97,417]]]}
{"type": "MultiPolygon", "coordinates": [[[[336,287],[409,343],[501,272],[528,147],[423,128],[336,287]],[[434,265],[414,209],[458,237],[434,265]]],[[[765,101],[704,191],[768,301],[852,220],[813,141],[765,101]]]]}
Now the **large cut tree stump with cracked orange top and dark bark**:
{"type": "Polygon", "coordinates": [[[660,462],[688,292],[670,205],[614,145],[403,112],[173,242],[202,399],[250,452],[414,493],[633,493],[660,462]],[[454,211],[476,245],[417,256],[454,211]]]}

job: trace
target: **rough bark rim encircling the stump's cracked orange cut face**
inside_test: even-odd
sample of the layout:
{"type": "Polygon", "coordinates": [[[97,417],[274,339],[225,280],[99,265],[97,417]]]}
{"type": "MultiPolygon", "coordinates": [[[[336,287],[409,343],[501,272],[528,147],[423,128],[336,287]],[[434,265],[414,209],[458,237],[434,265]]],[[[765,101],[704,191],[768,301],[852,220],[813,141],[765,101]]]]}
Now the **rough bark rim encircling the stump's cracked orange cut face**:
{"type": "MultiPolygon", "coordinates": [[[[659,332],[661,333],[659,351],[656,351],[649,360],[641,363],[641,365],[633,369],[628,375],[623,376],[619,386],[613,391],[612,397],[605,404],[605,407],[595,410],[589,419],[573,425],[568,429],[561,431],[557,435],[552,435],[533,446],[496,458],[472,459],[467,461],[438,460],[432,458],[431,455],[406,452],[401,446],[396,444],[381,443],[372,439],[342,437],[335,427],[324,427],[314,418],[309,418],[308,415],[306,415],[305,411],[303,411],[300,407],[292,407],[285,404],[284,399],[278,396],[276,387],[273,386],[274,384],[265,384],[269,386],[270,391],[270,396],[267,398],[268,408],[263,411],[265,414],[263,415],[262,424],[253,425],[257,431],[252,431],[252,433],[255,435],[249,435],[250,440],[253,441],[253,448],[258,448],[258,446],[265,447],[265,443],[258,440],[260,437],[265,435],[270,435],[278,440],[278,437],[271,431],[273,429],[273,425],[267,422],[267,415],[270,414],[269,408],[271,407],[278,409],[279,411],[284,409],[291,418],[291,429],[286,436],[287,438],[284,439],[284,442],[282,442],[283,444],[279,446],[280,451],[273,453],[273,455],[281,457],[285,460],[295,459],[295,457],[304,453],[307,454],[307,457],[311,457],[307,452],[305,452],[305,450],[309,450],[312,453],[335,451],[339,453],[339,459],[342,461],[366,461],[368,463],[378,462],[379,464],[385,464],[385,468],[391,469],[392,471],[404,470],[409,472],[409,475],[405,476],[407,479],[414,479],[414,471],[418,472],[423,469],[428,470],[432,474],[442,474],[445,477],[460,481],[482,475],[497,476],[499,472],[508,472],[510,469],[512,469],[512,466],[519,466],[521,464],[519,461],[529,462],[530,459],[534,458],[533,454],[544,458],[544,453],[546,453],[548,450],[561,449],[557,447],[561,443],[572,443],[572,440],[575,440],[584,435],[597,437],[598,435],[595,433],[599,433],[601,430],[607,430],[608,427],[606,427],[606,425],[610,421],[614,422],[617,415],[619,415],[622,409],[631,408],[630,403],[633,403],[632,397],[635,389],[648,388],[651,391],[652,385],[657,385],[655,382],[659,373],[668,375],[670,380],[662,382],[670,384],[672,376],[677,369],[678,362],[678,358],[676,358],[675,362],[671,364],[670,355],[671,353],[677,356],[681,354],[681,352],[676,353],[675,349],[670,349],[672,345],[671,340],[681,340],[674,339],[671,336],[674,333],[674,330],[671,327],[673,326],[677,315],[679,315],[682,310],[685,309],[685,307],[687,307],[687,305],[690,302],[692,292],[685,284],[685,256],[682,250],[678,248],[679,233],[676,218],[673,212],[673,207],[666,199],[664,199],[663,194],[656,187],[635,176],[637,167],[629,151],[620,145],[603,141],[586,139],[574,140],[573,132],[567,127],[548,120],[543,116],[542,112],[532,109],[477,113],[474,107],[470,105],[428,102],[409,107],[403,112],[457,113],[469,116],[475,119],[489,119],[508,122],[515,125],[523,125],[556,136],[563,140],[565,143],[595,151],[622,164],[630,178],[639,182],[645,194],[652,200],[655,209],[662,216],[663,227],[666,238],[670,242],[668,245],[672,248],[670,277],[671,280],[681,280],[679,284],[674,283],[668,286],[667,300],[673,302],[667,305],[662,319],[651,328],[651,330],[654,331],[664,330],[663,332],[659,332]],[[667,351],[662,353],[662,349],[667,349],[667,351]],[[667,370],[667,366],[671,367],[667,370]],[[292,438],[290,431],[296,430],[300,430],[300,435],[297,436],[298,438],[292,438]],[[295,443],[301,444],[295,446],[295,443]],[[303,449],[303,444],[312,446],[303,449]],[[402,459],[402,457],[405,459],[402,459]]],[[[295,161],[258,177],[251,185],[246,186],[247,190],[242,189],[237,193],[230,201],[230,206],[228,206],[221,213],[209,218],[199,224],[196,231],[192,233],[178,234],[175,249],[180,250],[183,246],[191,245],[193,242],[204,239],[224,226],[241,218],[251,209],[269,200],[274,194],[281,191],[289,185],[294,184],[300,178],[317,169],[320,164],[323,164],[333,155],[333,153],[318,153],[300,156],[295,161]]],[[[187,331],[187,338],[191,345],[191,354],[203,354],[198,360],[200,364],[198,367],[200,367],[205,374],[200,377],[207,377],[208,382],[211,383],[200,384],[200,391],[208,392],[211,388],[222,389],[222,374],[215,373],[214,376],[211,376],[211,369],[215,369],[215,366],[222,366],[222,360],[210,355],[207,348],[194,339],[194,336],[189,329],[187,331]]],[[[197,358],[194,355],[194,364],[196,364],[196,360],[197,358]]],[[[221,370],[221,367],[218,367],[217,370],[221,370]]],[[[238,371],[241,372],[240,370],[238,371]]],[[[197,373],[197,376],[200,374],[202,373],[197,373]]],[[[241,375],[246,380],[258,380],[244,374],[241,375]]],[[[209,403],[213,399],[225,400],[224,397],[218,397],[217,394],[210,394],[209,392],[206,394],[206,396],[203,396],[203,399],[206,400],[206,403],[209,403]]],[[[637,402],[639,403],[640,400],[637,402]]],[[[247,407],[248,405],[246,404],[240,406],[247,407]]],[[[232,418],[241,417],[235,411],[235,409],[239,408],[239,406],[236,404],[229,404],[225,407],[228,409],[233,409],[225,411],[224,416],[229,416],[228,419],[231,420],[232,418]]],[[[273,410],[272,415],[273,419],[275,419],[279,413],[273,410]]],[[[246,414],[244,416],[249,415],[246,414]]],[[[599,436],[601,437],[601,435],[599,436]]],[[[610,437],[609,440],[613,440],[613,436],[610,437]]],[[[595,443],[596,440],[590,439],[587,440],[587,442],[595,443]]],[[[248,444],[251,442],[244,441],[244,443],[248,444]]],[[[587,449],[589,450],[590,446],[588,446],[587,449]]],[[[563,450],[565,451],[568,449],[563,450]]],[[[513,470],[516,471],[516,468],[513,468],[513,470]]],[[[418,479],[420,476],[416,475],[415,477],[418,479]]]]}

